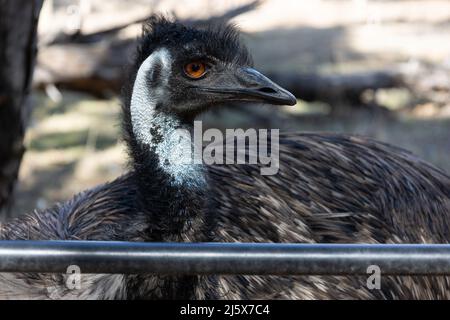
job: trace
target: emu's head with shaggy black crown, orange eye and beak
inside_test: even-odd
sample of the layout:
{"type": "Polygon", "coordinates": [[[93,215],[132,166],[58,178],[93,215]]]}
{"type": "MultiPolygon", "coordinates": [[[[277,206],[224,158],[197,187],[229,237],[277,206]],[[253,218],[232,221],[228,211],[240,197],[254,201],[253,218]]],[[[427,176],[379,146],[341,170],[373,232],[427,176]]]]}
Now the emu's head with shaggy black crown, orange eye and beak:
{"type": "Polygon", "coordinates": [[[135,96],[188,122],[229,101],[295,104],[291,93],[251,66],[232,26],[199,30],[155,16],[144,27],[125,104],[135,96]]]}

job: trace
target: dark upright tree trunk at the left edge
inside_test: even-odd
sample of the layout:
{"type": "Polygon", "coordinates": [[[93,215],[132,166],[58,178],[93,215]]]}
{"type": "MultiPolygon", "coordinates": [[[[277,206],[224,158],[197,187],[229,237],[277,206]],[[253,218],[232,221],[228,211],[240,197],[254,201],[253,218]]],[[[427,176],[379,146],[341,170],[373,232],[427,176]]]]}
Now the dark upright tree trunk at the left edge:
{"type": "Polygon", "coordinates": [[[24,153],[42,0],[0,0],[0,210],[9,209],[24,153]]]}

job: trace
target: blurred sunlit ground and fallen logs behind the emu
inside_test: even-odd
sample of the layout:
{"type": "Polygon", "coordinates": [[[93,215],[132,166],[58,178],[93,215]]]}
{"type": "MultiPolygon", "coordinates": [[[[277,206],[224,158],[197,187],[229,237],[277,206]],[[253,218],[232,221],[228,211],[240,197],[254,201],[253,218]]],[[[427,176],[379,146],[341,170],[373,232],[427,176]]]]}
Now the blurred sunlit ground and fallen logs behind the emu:
{"type": "Polygon", "coordinates": [[[45,0],[37,7],[38,53],[21,113],[26,151],[13,168],[15,200],[4,201],[10,215],[126,170],[118,97],[141,22],[152,13],[237,24],[256,67],[298,97],[295,107],[216,110],[204,127],[361,134],[450,172],[450,1],[45,0]]]}

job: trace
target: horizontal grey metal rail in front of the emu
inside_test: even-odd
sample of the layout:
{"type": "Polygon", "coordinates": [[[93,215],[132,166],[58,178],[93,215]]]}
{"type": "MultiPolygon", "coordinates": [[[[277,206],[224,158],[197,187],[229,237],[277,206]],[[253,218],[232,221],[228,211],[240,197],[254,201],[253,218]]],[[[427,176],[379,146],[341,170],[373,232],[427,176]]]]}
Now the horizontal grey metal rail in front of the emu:
{"type": "Polygon", "coordinates": [[[450,275],[450,245],[0,241],[1,272],[450,275]]]}

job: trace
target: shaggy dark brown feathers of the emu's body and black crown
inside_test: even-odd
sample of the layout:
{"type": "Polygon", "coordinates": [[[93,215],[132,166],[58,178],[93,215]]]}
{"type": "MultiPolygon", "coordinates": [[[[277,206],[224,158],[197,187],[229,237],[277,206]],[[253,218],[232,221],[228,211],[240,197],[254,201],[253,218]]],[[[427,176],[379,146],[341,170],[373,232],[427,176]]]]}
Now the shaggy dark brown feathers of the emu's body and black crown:
{"type": "MultiPolygon", "coordinates": [[[[231,50],[227,59],[242,53],[248,60],[230,30],[198,31],[155,18],[134,74],[139,57],[156,43],[177,45],[185,37],[210,46],[207,50],[223,42],[218,54],[231,50]]],[[[282,135],[277,175],[261,176],[251,165],[209,166],[208,189],[175,188],[135,141],[129,103],[130,90],[124,99],[129,173],[0,225],[1,239],[448,242],[450,177],[404,150],[355,136],[282,135]]],[[[5,273],[0,297],[447,299],[450,278],[383,277],[381,290],[369,290],[363,277],[83,275],[82,289],[69,291],[62,275],[5,273]]]]}

